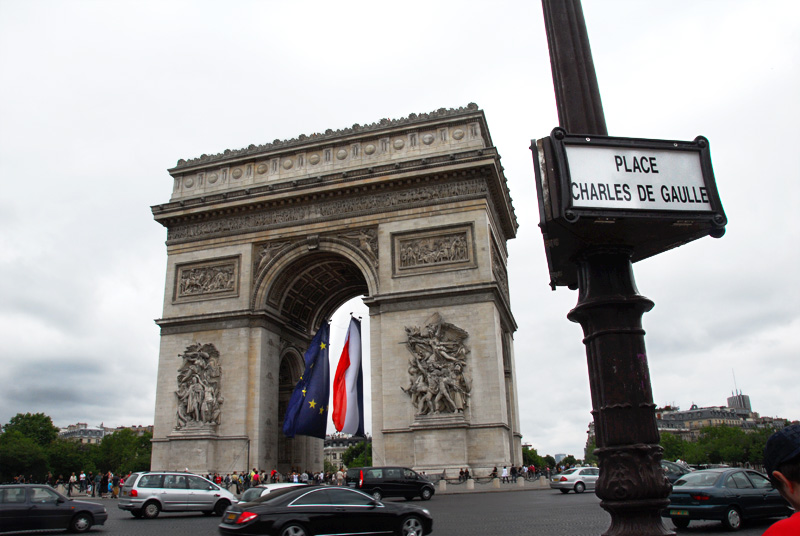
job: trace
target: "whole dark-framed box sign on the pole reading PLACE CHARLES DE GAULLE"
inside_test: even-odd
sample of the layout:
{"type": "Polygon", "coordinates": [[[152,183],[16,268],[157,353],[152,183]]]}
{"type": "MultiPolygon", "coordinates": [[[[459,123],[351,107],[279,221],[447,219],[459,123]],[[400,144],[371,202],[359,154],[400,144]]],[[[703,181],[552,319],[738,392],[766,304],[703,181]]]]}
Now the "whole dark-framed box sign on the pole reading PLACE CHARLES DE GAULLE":
{"type": "Polygon", "coordinates": [[[708,140],[614,138],[556,128],[533,142],[550,285],[575,287],[575,260],[624,246],[636,262],[725,233],[708,140]]]}

